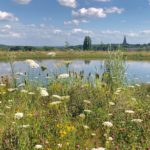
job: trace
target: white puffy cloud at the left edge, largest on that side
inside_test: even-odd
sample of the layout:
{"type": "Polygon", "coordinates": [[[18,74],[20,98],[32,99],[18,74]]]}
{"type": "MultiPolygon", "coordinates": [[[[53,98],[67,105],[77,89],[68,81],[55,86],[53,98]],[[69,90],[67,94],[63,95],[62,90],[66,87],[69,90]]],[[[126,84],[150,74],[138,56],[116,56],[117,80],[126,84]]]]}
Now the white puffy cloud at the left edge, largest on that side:
{"type": "Polygon", "coordinates": [[[18,18],[12,13],[0,11],[0,21],[18,21],[18,18]]]}

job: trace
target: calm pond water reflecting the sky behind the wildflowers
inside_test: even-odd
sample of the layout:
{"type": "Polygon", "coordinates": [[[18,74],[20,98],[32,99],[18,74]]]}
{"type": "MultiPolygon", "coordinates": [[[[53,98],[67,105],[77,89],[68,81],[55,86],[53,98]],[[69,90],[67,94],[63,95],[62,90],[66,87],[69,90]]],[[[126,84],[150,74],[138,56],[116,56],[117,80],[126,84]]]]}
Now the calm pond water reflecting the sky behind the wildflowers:
{"type": "MultiPolygon", "coordinates": [[[[60,74],[68,71],[80,72],[84,71],[85,75],[89,73],[103,73],[103,60],[72,60],[67,66],[63,60],[41,60],[36,61],[41,66],[47,67],[42,72],[40,69],[30,69],[24,61],[16,61],[13,64],[15,72],[27,72],[31,78],[44,79],[47,74],[60,74]]],[[[0,62],[0,76],[11,74],[10,64],[7,62],[0,62]]],[[[129,81],[136,83],[145,82],[150,83],[150,62],[143,61],[128,61],[126,62],[126,75],[129,81]]]]}

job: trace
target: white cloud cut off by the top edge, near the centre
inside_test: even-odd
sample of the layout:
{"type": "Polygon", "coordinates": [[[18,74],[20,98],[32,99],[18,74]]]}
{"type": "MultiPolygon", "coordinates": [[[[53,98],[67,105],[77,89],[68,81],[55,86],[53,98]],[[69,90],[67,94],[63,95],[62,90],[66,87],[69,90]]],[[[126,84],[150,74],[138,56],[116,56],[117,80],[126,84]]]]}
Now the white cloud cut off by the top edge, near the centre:
{"type": "Polygon", "coordinates": [[[58,0],[60,5],[66,6],[66,7],[71,7],[71,8],[76,8],[77,2],[76,0],[58,0]]]}

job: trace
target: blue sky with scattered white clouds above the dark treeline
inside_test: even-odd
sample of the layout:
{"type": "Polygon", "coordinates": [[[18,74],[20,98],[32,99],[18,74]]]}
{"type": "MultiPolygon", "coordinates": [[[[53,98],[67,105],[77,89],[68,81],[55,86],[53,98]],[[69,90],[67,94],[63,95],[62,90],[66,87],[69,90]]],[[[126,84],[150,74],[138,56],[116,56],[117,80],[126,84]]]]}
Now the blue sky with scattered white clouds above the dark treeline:
{"type": "Polygon", "coordinates": [[[0,0],[0,44],[150,43],[150,0],[0,0]]]}

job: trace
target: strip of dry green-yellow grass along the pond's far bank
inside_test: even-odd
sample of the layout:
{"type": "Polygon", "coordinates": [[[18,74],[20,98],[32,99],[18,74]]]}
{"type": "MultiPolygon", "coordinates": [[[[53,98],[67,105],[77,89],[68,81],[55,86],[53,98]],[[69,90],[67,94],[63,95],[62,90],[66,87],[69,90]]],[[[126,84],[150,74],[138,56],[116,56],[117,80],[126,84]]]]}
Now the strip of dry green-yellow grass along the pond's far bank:
{"type": "MultiPolygon", "coordinates": [[[[56,56],[48,55],[46,51],[0,51],[0,60],[7,61],[8,55],[14,56],[16,60],[23,59],[107,59],[108,53],[104,51],[55,51],[56,56]]],[[[150,60],[150,52],[124,52],[128,60],[150,60]]]]}

